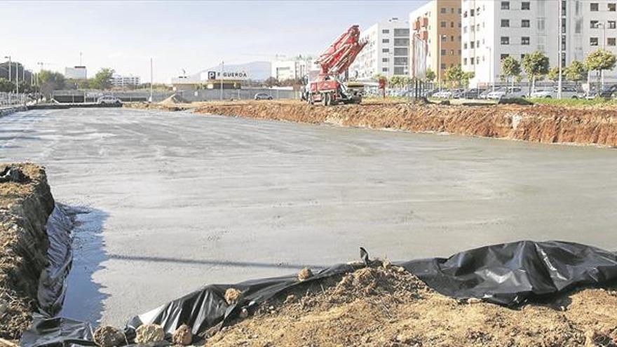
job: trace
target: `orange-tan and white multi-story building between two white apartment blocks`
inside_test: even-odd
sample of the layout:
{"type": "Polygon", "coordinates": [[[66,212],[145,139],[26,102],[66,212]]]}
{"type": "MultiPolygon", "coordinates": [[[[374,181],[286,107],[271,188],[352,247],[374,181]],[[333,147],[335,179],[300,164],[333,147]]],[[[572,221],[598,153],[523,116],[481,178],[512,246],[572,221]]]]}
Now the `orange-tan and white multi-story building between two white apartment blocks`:
{"type": "Polygon", "coordinates": [[[430,0],[409,13],[409,23],[412,46],[426,46],[426,57],[412,55],[412,66],[426,66],[440,81],[447,68],[461,64],[461,0],[430,0]]]}

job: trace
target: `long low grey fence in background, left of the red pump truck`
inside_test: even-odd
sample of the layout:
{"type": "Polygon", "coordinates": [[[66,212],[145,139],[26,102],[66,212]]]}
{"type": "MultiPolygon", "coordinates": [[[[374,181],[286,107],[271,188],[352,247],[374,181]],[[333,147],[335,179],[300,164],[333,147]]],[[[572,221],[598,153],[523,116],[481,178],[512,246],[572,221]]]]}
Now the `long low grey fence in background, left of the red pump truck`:
{"type": "MultiPolygon", "coordinates": [[[[178,95],[187,102],[213,101],[213,100],[251,100],[255,94],[264,93],[273,99],[298,99],[297,90],[278,90],[268,88],[258,89],[200,89],[200,90],[157,90],[152,93],[152,101],[160,102],[172,95],[178,95]]],[[[103,95],[117,97],[123,102],[147,101],[150,99],[149,90],[55,90],[52,97],[57,102],[96,102],[103,95]]]]}

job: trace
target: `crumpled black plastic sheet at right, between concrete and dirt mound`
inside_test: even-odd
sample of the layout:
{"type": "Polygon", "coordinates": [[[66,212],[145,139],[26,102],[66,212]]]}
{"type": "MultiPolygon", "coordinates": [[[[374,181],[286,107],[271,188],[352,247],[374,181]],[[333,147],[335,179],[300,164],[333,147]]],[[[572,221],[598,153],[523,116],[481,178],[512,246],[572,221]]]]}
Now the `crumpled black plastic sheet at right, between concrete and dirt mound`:
{"type": "Polygon", "coordinates": [[[448,297],[506,306],[617,280],[616,253],[560,241],[504,243],[400,265],[448,297]]]}

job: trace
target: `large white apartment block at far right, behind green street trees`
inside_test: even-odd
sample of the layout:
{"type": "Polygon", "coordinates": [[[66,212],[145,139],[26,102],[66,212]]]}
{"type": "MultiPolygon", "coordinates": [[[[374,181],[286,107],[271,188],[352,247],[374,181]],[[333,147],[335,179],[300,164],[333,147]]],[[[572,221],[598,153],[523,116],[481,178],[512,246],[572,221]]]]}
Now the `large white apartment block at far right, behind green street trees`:
{"type": "MultiPolygon", "coordinates": [[[[560,20],[564,67],[602,46],[617,53],[617,0],[562,0],[561,14],[558,1],[462,0],[461,66],[475,73],[470,85],[499,82],[501,60],[508,55],[522,60],[540,50],[556,67],[560,20]]],[[[605,74],[609,79],[614,75],[605,74]]]]}

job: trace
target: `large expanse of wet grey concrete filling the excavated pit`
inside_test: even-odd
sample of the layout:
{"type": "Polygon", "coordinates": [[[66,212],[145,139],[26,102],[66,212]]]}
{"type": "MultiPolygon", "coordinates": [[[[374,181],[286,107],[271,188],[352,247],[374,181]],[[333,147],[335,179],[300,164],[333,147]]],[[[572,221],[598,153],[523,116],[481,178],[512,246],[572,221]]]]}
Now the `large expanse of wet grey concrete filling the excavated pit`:
{"type": "Polygon", "coordinates": [[[511,240],[617,249],[617,151],[130,109],[0,118],[74,231],[63,315],[123,325],[209,283],[511,240]]]}

